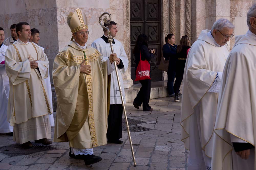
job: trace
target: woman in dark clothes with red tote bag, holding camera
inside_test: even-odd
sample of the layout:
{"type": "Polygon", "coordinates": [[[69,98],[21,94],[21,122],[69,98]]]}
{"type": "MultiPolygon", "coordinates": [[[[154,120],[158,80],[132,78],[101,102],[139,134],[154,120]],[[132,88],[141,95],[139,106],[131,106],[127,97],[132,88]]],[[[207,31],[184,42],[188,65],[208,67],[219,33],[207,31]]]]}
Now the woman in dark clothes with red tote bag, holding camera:
{"type": "Polygon", "coordinates": [[[141,89],[137,94],[137,97],[133,101],[133,106],[136,109],[142,104],[143,111],[151,111],[148,104],[150,98],[150,63],[151,58],[154,57],[154,49],[148,50],[147,36],[145,34],[140,34],[137,38],[135,47],[133,49],[133,54],[135,56],[135,74],[136,80],[140,81],[141,89]]]}

